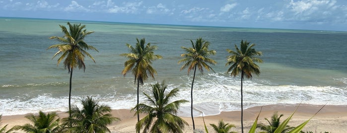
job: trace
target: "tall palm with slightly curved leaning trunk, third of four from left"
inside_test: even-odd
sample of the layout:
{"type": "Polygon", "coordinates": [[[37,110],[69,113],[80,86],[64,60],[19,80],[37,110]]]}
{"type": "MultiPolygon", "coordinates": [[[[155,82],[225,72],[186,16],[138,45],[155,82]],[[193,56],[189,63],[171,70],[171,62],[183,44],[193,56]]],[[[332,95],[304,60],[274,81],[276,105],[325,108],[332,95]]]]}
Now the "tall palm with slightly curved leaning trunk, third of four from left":
{"type": "Polygon", "coordinates": [[[181,67],[180,70],[182,71],[183,69],[188,67],[188,75],[189,72],[194,69],[191,88],[191,115],[193,121],[193,130],[195,130],[193,118],[193,85],[195,79],[195,72],[197,70],[197,67],[201,73],[204,72],[204,68],[208,71],[211,69],[214,72],[212,67],[209,67],[208,64],[215,65],[216,62],[212,59],[209,59],[208,57],[210,55],[215,55],[216,52],[214,50],[208,50],[209,42],[203,40],[201,37],[197,39],[195,43],[192,40],[190,41],[192,43],[192,48],[181,47],[186,53],[181,55],[181,57],[183,57],[184,59],[180,60],[178,64],[185,62],[185,64],[181,67]]]}

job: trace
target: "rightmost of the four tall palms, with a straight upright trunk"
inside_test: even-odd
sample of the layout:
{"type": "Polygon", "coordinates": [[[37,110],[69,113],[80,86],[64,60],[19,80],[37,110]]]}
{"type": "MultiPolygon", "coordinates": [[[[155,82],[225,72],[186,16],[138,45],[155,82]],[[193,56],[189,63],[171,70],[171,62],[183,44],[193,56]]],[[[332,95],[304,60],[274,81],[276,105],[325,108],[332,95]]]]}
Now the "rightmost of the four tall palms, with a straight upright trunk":
{"type": "Polygon", "coordinates": [[[262,52],[256,51],[253,47],[255,44],[249,45],[249,42],[241,40],[239,49],[235,44],[235,51],[227,49],[231,55],[227,57],[225,66],[231,65],[227,72],[231,71],[232,76],[236,76],[241,72],[241,128],[243,133],[243,95],[242,83],[243,78],[251,78],[252,73],[259,75],[259,66],[255,62],[262,63],[263,61],[257,56],[261,56],[262,52]]]}

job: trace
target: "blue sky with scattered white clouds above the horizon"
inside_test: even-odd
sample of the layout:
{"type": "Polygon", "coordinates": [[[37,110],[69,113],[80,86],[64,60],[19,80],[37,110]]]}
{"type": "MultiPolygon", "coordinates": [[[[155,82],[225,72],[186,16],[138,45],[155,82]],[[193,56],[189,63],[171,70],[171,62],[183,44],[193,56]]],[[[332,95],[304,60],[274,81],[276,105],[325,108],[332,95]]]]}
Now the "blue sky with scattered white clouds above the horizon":
{"type": "Polygon", "coordinates": [[[347,31],[347,0],[0,0],[0,16],[347,31]]]}

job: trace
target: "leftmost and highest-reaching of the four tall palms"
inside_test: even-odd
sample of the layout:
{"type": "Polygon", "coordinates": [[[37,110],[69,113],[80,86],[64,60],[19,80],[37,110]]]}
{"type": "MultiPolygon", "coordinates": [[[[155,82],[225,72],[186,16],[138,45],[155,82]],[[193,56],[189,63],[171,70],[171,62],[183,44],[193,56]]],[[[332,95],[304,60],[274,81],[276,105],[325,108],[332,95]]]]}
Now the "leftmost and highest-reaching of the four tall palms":
{"type": "Polygon", "coordinates": [[[69,70],[70,73],[70,84],[69,84],[69,118],[71,118],[71,81],[72,81],[72,70],[74,67],[83,68],[85,71],[84,57],[88,56],[95,63],[94,58],[86,51],[93,50],[99,52],[93,46],[87,45],[84,42],[84,37],[93,33],[92,31],[86,31],[85,25],[81,24],[70,24],[69,30],[64,25],[59,25],[64,33],[63,37],[53,36],[50,39],[56,39],[60,44],[52,45],[48,47],[57,48],[59,51],[54,54],[53,58],[58,55],[62,55],[58,59],[57,65],[60,64],[64,59],[64,67],[69,70]]]}

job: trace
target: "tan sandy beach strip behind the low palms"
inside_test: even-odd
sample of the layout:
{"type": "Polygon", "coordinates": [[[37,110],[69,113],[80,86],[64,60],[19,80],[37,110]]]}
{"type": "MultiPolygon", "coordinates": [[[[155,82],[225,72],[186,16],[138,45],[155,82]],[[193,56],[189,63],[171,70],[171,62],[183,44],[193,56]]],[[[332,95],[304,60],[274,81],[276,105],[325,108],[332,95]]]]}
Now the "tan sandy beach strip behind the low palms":
{"type": "MultiPolygon", "coordinates": [[[[264,118],[270,118],[273,112],[278,111],[279,114],[284,114],[281,121],[285,120],[297,107],[297,105],[289,104],[276,104],[263,106],[262,112],[259,117],[259,123],[266,123],[264,118]]],[[[315,114],[322,105],[307,105],[301,104],[297,112],[290,120],[290,126],[298,126],[304,121],[308,120],[315,114]]],[[[254,120],[256,119],[261,107],[252,107],[244,110],[244,127],[245,132],[248,132],[254,120]]],[[[68,114],[58,113],[61,118],[67,117],[68,114]]],[[[130,110],[121,109],[113,110],[112,114],[120,118],[122,121],[116,122],[109,126],[112,133],[135,133],[135,124],[137,118],[134,117],[134,112],[130,110]]],[[[2,116],[1,125],[8,124],[8,127],[15,125],[24,125],[29,121],[24,118],[25,115],[2,116]]],[[[142,115],[143,116],[143,115],[142,115]]],[[[221,112],[219,115],[206,116],[205,122],[208,126],[208,131],[214,133],[209,124],[217,124],[218,120],[223,119],[225,123],[230,123],[236,126],[231,131],[241,132],[240,125],[240,111],[221,112]]],[[[193,126],[190,117],[183,117],[190,125],[184,129],[184,133],[192,133],[193,126]]],[[[194,118],[196,129],[204,131],[204,123],[202,117],[194,118]]],[[[311,121],[306,125],[303,131],[312,131],[317,133],[330,132],[330,133],[346,133],[347,132],[347,105],[332,106],[326,105],[311,121]]]]}

